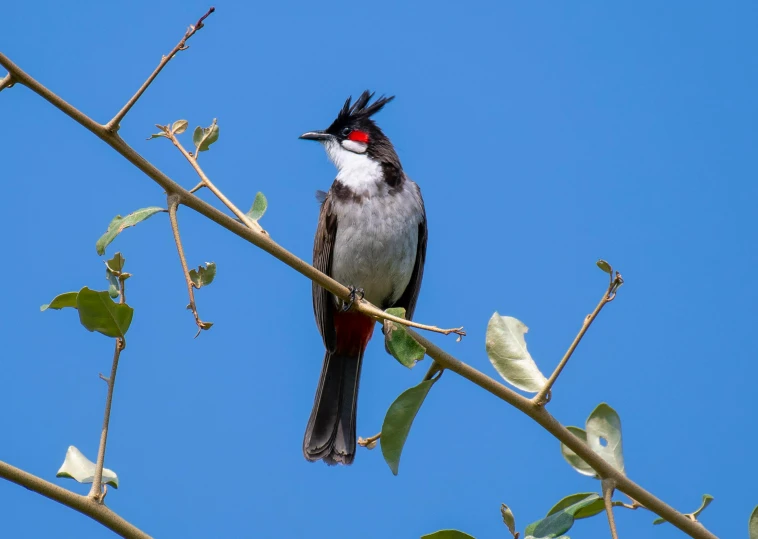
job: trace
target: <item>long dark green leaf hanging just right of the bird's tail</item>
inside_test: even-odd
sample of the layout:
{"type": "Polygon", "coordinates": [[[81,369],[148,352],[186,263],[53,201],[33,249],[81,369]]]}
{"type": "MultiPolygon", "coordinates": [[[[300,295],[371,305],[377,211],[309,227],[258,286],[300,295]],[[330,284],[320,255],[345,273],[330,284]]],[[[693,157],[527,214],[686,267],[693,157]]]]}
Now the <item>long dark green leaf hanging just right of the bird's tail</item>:
{"type": "Polygon", "coordinates": [[[403,452],[413,420],[433,384],[434,380],[424,380],[419,385],[406,389],[387,410],[382,423],[380,444],[384,460],[394,475],[397,475],[400,454],[403,452]]]}

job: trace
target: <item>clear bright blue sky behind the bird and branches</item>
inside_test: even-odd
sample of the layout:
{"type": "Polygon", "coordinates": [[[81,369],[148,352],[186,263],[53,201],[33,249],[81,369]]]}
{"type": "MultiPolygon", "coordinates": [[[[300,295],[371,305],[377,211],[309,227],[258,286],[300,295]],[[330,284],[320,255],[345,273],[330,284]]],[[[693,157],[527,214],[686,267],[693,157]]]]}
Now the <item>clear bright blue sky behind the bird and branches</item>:
{"type": "MultiPolygon", "coordinates": [[[[219,1],[217,12],[120,131],[187,187],[197,178],[154,124],[218,118],[201,163],[263,225],[310,259],[317,189],[333,166],[297,139],[369,88],[422,188],[429,249],[416,317],[463,325],[434,336],[497,376],[484,352],[494,311],[530,327],[543,372],[563,355],[606,277],[626,284],[591,328],[549,407],[583,425],[600,402],[623,423],[632,479],[703,522],[746,537],[758,504],[755,149],[758,8],[752,2],[340,3],[219,1]],[[752,433],[752,434],[751,434],[752,433]]],[[[108,120],[206,2],[11,2],[0,50],[99,121],[108,120]]],[[[0,73],[3,76],[4,73],[0,73]]],[[[163,205],[161,190],[96,137],[17,86],[0,94],[0,459],[55,479],[66,448],[95,457],[112,342],[54,295],[106,286],[95,240],[110,219],[163,205]]],[[[187,140],[189,140],[189,136],[187,140]]],[[[202,195],[211,200],[209,193],[202,195]]],[[[129,229],[136,309],[113,403],[108,504],[155,537],[419,537],[454,527],[506,537],[558,499],[599,484],[539,426],[452,373],[435,385],[394,477],[378,450],[351,467],[301,454],[323,355],[310,282],[180,211],[189,263],[218,264],[197,294],[212,330],[194,340],[166,215],[129,229]]],[[[378,332],[376,335],[379,335],[378,332]]],[[[375,434],[412,371],[375,338],[358,432],[375,434]]],[[[623,497],[621,498],[623,499],[623,497]]],[[[0,535],[108,537],[86,517],[0,482],[0,535]]],[[[680,537],[618,511],[622,537],[680,537]]],[[[604,517],[572,537],[605,537],[604,517]]]]}

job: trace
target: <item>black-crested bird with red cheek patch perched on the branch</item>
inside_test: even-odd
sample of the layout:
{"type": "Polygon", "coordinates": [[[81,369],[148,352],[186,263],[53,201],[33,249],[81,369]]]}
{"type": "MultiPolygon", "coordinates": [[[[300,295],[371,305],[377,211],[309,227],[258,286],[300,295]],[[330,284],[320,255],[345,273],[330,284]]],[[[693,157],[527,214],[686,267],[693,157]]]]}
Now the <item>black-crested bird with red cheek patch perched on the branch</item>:
{"type": "Polygon", "coordinates": [[[326,351],[303,454],[328,465],[355,459],[361,364],[375,325],[350,307],[365,298],[381,309],[403,307],[410,320],[426,259],[421,190],[372,119],[395,96],[371,102],[373,96],[366,90],[355,102],[348,97],[327,129],[300,135],[320,142],[337,168],[329,191],[316,195],[321,209],[313,265],[350,290],[350,300],[343,301],[315,282],[312,289],[326,351]]]}

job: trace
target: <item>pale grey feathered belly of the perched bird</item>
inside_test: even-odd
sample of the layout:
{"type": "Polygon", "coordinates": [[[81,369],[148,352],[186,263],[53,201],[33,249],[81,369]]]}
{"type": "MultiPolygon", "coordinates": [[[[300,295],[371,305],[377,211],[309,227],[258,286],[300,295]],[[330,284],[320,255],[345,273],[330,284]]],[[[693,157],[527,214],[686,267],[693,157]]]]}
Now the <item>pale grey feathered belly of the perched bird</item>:
{"type": "Polygon", "coordinates": [[[332,255],[332,277],[382,308],[402,296],[418,249],[418,217],[395,206],[369,200],[340,215],[332,255]]]}

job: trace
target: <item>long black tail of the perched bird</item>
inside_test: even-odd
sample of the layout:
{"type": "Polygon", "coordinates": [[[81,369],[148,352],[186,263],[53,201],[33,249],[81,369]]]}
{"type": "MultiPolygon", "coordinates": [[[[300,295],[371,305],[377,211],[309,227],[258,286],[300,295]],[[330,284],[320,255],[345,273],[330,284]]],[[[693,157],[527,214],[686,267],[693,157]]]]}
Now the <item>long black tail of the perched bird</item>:
{"type": "Polygon", "coordinates": [[[303,439],[306,459],[324,459],[327,464],[352,464],[362,362],[363,353],[356,357],[326,352],[303,439]]]}

